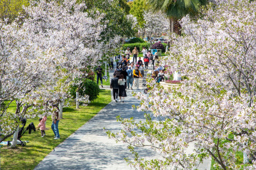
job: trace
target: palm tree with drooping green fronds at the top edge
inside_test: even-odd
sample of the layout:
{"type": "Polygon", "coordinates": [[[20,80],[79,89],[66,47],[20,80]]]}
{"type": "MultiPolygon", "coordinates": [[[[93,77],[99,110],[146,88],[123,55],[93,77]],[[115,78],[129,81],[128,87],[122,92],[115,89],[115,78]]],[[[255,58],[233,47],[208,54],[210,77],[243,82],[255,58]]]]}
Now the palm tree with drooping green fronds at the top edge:
{"type": "Polygon", "coordinates": [[[205,5],[207,0],[147,0],[150,9],[161,11],[170,19],[170,32],[180,34],[180,24],[178,20],[185,15],[196,16],[200,6],[205,5]]]}

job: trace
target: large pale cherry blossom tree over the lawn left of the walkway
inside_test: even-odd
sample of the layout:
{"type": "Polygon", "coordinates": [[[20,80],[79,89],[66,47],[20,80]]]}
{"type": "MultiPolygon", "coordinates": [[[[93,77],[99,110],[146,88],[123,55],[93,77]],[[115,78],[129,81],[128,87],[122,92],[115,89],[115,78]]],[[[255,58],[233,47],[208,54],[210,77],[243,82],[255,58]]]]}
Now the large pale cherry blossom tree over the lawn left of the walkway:
{"type": "MultiPolygon", "coordinates": [[[[26,17],[0,23],[1,141],[15,129],[17,134],[22,118],[50,114],[52,106],[68,98],[69,85],[80,83],[75,78],[86,76],[86,68],[102,58],[104,14],[90,17],[85,9],[75,1],[38,1],[24,8],[26,17]],[[13,101],[17,110],[10,113],[13,101]]],[[[88,96],[81,101],[88,103],[88,96]]]]}

